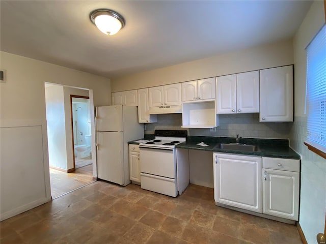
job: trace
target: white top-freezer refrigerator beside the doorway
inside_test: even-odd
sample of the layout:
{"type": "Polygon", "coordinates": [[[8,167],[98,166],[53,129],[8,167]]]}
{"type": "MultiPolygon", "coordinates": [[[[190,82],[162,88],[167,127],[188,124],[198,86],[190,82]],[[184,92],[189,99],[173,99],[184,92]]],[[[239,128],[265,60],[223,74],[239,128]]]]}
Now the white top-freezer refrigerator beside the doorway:
{"type": "Polygon", "coordinates": [[[129,180],[128,141],[144,137],[135,106],[96,107],[97,177],[121,186],[129,180]]]}

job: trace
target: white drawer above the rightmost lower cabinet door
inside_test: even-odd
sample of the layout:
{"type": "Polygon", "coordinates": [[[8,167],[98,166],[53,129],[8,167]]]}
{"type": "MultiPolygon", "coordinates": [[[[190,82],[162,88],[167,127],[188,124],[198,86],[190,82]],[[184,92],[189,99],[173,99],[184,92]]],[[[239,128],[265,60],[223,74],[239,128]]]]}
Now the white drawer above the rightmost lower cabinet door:
{"type": "Polygon", "coordinates": [[[263,157],[263,168],[300,172],[300,160],[263,157]]]}

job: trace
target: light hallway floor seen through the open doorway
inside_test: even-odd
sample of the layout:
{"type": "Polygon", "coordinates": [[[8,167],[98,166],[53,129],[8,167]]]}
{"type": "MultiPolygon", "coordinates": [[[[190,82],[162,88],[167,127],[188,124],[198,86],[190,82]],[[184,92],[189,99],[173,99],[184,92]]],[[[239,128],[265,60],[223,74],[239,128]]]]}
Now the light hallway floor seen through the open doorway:
{"type": "Polygon", "coordinates": [[[93,181],[93,165],[76,169],[72,173],[50,168],[51,196],[56,198],[93,181]]]}

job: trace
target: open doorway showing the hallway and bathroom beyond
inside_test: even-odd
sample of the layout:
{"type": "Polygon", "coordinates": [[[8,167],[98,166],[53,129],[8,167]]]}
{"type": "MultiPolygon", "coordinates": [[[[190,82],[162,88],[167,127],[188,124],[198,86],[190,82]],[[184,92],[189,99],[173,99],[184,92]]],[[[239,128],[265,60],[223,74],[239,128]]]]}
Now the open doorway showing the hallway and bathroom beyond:
{"type": "Polygon", "coordinates": [[[55,199],[96,180],[94,108],[89,90],[47,83],[45,104],[51,196],[55,199]]]}

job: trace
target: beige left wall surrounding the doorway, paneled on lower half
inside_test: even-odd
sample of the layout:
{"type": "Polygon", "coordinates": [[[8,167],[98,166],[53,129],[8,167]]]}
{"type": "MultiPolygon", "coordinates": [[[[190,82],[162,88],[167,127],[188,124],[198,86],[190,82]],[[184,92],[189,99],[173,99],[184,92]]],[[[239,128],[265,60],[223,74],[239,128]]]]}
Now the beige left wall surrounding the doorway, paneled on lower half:
{"type": "Polygon", "coordinates": [[[0,55],[0,68],[6,70],[6,80],[0,85],[1,187],[7,189],[1,188],[0,192],[3,220],[51,199],[44,82],[90,89],[95,106],[111,104],[111,84],[110,79],[85,72],[11,53],[0,52],[0,55]],[[28,136],[31,127],[39,128],[33,137],[40,138],[41,146],[32,148],[37,157],[26,154],[22,163],[17,152],[28,153],[25,145],[34,143],[28,136]],[[6,150],[13,138],[15,154],[6,150]],[[15,172],[22,172],[25,177],[18,177],[15,172]],[[33,184],[26,184],[26,178],[32,179],[33,184]],[[15,179],[15,184],[10,179],[15,179]],[[12,197],[22,192],[26,194],[12,197]]]}

